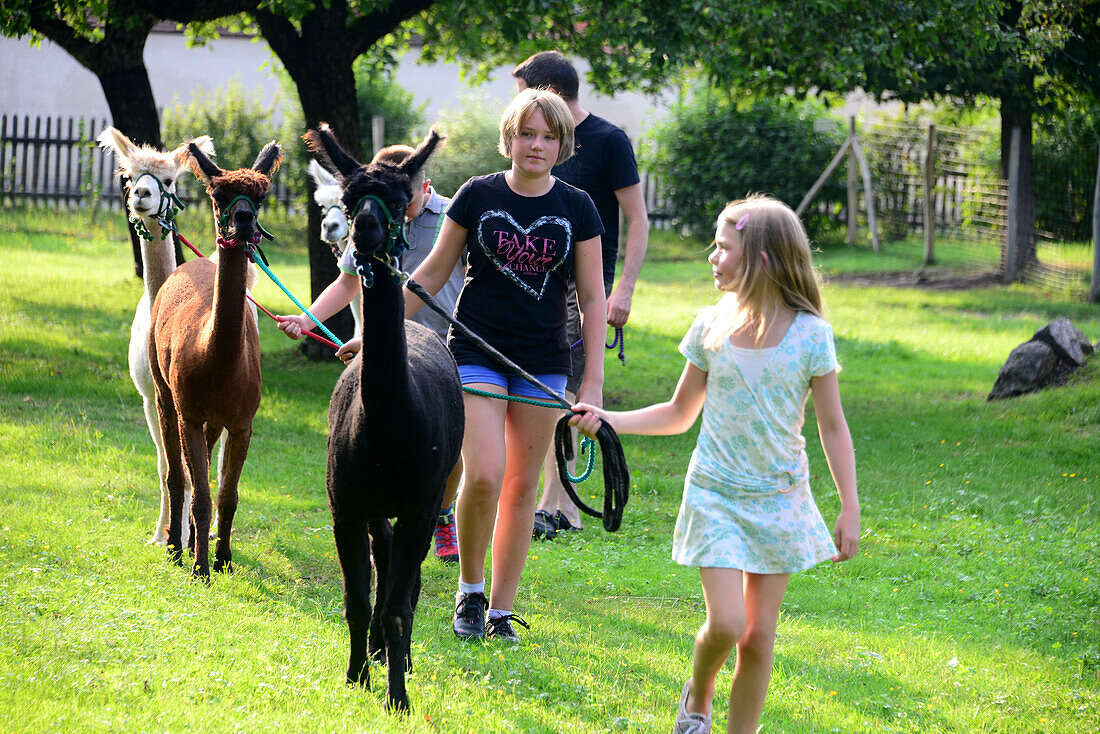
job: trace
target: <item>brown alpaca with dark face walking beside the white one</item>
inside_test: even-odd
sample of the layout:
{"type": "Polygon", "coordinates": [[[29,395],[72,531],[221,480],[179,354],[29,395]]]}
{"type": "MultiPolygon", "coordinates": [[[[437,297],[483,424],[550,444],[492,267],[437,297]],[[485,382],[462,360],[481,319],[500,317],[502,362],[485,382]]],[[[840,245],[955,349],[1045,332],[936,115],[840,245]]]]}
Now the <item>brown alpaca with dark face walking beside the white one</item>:
{"type": "Polygon", "coordinates": [[[256,208],[283,152],[273,141],[252,168],[222,171],[196,145],[191,171],[207,185],[218,227],[217,262],[200,259],[165,281],[153,303],[148,335],[156,410],[168,459],[168,555],[182,560],[184,465],[190,475],[195,566],[210,577],[210,449],[226,431],[218,487],[216,571],[232,570],[229,540],[237,512],[237,485],[249,452],[252,419],[260,407],[260,335],[244,298],[250,253],[260,240],[256,208]],[[183,454],[183,461],[180,461],[183,454]]]}

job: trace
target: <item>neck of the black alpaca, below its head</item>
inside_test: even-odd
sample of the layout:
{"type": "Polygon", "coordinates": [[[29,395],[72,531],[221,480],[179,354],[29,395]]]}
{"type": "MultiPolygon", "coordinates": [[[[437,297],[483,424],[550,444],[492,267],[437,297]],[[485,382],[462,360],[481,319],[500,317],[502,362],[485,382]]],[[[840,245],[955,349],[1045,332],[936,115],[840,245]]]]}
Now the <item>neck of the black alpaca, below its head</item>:
{"type": "Polygon", "coordinates": [[[365,404],[403,401],[408,391],[405,297],[400,284],[374,265],[374,285],[363,288],[363,359],[360,390],[365,404]],[[370,398],[370,399],[367,399],[370,398]]]}

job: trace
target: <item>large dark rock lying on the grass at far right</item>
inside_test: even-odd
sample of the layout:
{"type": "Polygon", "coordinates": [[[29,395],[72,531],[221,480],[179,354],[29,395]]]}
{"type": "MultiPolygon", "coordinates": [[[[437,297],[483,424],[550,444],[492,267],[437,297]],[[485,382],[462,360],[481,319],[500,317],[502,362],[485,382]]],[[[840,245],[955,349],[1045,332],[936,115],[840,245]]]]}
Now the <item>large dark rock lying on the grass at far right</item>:
{"type": "Polygon", "coordinates": [[[1060,385],[1094,352],[1092,342],[1069,319],[1056,319],[1012,350],[988,399],[1060,385]]]}

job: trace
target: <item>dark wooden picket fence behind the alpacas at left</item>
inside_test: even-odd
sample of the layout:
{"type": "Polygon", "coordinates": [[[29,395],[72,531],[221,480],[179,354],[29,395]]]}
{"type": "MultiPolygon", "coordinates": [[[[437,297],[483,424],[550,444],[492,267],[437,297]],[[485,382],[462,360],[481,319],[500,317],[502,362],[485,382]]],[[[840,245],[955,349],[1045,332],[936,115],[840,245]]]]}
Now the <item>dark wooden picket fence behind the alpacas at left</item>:
{"type": "MultiPolygon", "coordinates": [[[[121,207],[114,153],[96,135],[109,120],[95,118],[0,117],[0,206],[10,202],[121,207]]],[[[305,182],[276,178],[268,204],[294,208],[304,201],[305,182]]],[[[194,180],[180,182],[187,204],[204,198],[194,180]]]]}

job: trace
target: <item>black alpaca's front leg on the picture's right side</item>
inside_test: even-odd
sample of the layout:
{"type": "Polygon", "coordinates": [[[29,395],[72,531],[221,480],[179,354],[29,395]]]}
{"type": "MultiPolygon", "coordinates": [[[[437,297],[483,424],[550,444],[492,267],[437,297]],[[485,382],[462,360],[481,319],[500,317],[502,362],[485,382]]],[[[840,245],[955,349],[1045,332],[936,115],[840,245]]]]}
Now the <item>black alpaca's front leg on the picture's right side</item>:
{"type": "Polygon", "coordinates": [[[389,555],[389,579],[383,627],[386,633],[386,709],[408,711],[405,690],[406,668],[411,664],[413,593],[419,590],[420,565],[428,556],[431,533],[438,513],[400,517],[394,525],[394,543],[389,555]]]}

